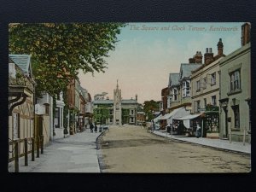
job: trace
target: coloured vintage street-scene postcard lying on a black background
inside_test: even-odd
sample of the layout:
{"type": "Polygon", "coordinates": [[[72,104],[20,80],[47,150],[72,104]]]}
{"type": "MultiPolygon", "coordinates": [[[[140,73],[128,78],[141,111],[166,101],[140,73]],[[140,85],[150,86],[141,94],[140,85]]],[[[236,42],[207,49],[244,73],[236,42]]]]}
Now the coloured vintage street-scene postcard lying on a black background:
{"type": "Polygon", "coordinates": [[[9,23],[9,172],[251,172],[251,23],[9,23]]]}

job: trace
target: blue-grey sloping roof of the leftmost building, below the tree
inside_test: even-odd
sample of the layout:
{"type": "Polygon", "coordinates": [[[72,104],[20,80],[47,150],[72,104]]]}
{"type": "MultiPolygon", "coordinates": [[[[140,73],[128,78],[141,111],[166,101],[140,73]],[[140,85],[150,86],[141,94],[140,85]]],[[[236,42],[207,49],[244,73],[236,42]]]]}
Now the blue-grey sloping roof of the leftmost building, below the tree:
{"type": "Polygon", "coordinates": [[[9,55],[9,58],[14,61],[23,72],[32,74],[31,55],[9,55]]]}

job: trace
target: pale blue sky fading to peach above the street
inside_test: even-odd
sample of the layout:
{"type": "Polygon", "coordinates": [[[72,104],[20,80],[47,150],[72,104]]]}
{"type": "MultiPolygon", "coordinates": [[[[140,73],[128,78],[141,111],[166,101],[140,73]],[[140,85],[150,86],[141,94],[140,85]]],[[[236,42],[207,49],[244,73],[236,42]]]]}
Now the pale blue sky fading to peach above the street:
{"type": "Polygon", "coordinates": [[[137,94],[141,103],[151,99],[160,101],[169,73],[178,73],[180,63],[188,63],[196,51],[204,55],[206,48],[212,48],[217,55],[219,38],[222,38],[225,55],[239,49],[242,24],[129,23],[122,28],[115,50],[106,59],[106,72],[95,73],[94,77],[80,73],[80,82],[92,97],[108,92],[113,99],[113,89],[119,79],[124,99],[135,98],[137,94]],[[230,27],[230,31],[217,31],[216,27],[230,27]]]}

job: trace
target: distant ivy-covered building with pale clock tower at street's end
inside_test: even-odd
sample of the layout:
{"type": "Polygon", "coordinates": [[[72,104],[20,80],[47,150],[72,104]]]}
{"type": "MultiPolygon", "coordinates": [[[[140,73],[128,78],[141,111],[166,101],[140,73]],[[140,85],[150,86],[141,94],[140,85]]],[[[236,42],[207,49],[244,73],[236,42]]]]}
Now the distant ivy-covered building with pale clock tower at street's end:
{"type": "Polygon", "coordinates": [[[93,101],[94,119],[98,124],[107,125],[137,125],[137,96],[135,99],[122,99],[117,82],[113,90],[113,100],[96,95],[93,101]]]}

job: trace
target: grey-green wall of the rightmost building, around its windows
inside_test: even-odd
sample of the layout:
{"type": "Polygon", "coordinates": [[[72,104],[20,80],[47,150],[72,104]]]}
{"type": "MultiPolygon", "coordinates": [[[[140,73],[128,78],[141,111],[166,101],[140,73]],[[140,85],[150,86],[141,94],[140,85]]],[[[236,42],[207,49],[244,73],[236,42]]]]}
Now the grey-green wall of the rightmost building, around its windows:
{"type": "MultiPolygon", "coordinates": [[[[242,141],[243,129],[249,130],[249,107],[245,101],[247,98],[251,98],[251,44],[243,46],[241,49],[237,49],[230,55],[226,56],[225,60],[220,63],[220,77],[221,86],[220,94],[221,99],[229,98],[228,102],[228,117],[230,122],[228,122],[228,128],[231,129],[232,140],[242,141]],[[241,92],[229,95],[230,92],[230,75],[229,72],[234,69],[234,67],[241,66],[241,92]],[[231,106],[233,105],[232,100],[236,100],[236,104],[239,104],[239,114],[240,114],[240,129],[234,131],[234,113],[231,106]]],[[[224,130],[224,110],[221,110],[221,134],[225,134],[224,130]]],[[[246,133],[247,133],[246,131],[246,133]]]]}

